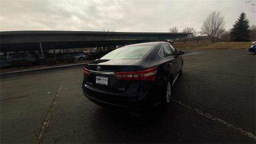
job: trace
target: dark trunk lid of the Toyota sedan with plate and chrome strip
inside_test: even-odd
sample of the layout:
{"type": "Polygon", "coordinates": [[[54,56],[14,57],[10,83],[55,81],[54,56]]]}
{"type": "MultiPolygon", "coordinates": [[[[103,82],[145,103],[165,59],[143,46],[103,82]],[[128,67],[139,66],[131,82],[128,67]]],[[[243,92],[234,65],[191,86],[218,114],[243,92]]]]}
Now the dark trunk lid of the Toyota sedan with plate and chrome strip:
{"type": "Polygon", "coordinates": [[[131,79],[120,79],[115,73],[134,72],[143,62],[142,59],[96,60],[85,66],[89,72],[84,75],[84,84],[96,90],[124,93],[131,79]]]}

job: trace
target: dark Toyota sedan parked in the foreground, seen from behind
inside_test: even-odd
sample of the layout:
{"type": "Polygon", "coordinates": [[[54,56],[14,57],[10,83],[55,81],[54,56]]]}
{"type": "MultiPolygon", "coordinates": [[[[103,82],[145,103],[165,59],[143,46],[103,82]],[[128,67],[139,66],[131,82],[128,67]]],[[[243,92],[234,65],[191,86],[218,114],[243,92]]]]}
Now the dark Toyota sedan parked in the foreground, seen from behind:
{"type": "Polygon", "coordinates": [[[168,42],[118,48],[84,67],[84,96],[104,107],[167,107],[182,74],[184,52],[168,42]]]}

